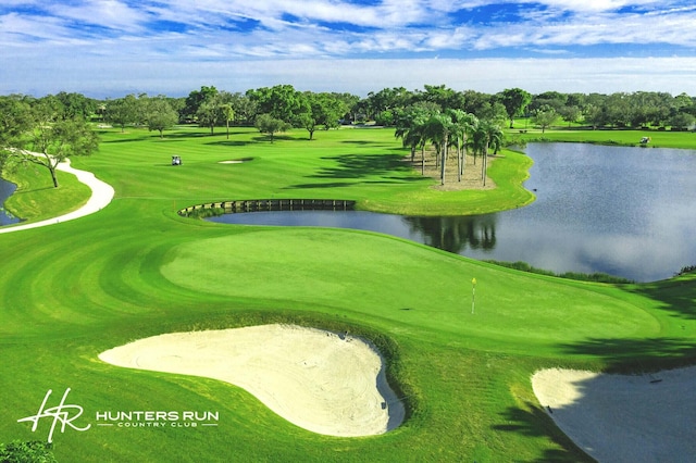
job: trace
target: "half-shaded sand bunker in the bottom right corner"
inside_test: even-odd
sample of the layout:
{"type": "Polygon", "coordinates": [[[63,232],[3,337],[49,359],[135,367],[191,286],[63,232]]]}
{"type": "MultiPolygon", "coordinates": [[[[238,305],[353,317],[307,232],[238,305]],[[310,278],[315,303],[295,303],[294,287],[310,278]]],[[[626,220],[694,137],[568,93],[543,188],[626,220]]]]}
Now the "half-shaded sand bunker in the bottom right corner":
{"type": "Polygon", "coordinates": [[[532,387],[558,427],[599,462],[696,461],[696,367],[642,376],[544,370],[532,387]]]}

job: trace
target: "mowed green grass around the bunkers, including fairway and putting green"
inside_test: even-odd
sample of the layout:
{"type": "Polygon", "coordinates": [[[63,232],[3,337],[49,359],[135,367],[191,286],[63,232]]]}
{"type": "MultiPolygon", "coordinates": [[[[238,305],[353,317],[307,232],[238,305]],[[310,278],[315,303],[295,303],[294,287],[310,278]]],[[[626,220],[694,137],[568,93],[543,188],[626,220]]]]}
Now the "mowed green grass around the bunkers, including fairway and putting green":
{"type": "Polygon", "coordinates": [[[498,190],[449,193],[403,168],[406,151],[391,130],[322,132],[311,142],[297,132],[273,145],[248,129],[229,140],[204,133],[164,140],[104,133],[100,152],[73,166],[114,186],[108,208],[0,235],[0,441],[45,438],[47,421],[33,434],[16,420],[35,414],[48,389],[71,388],[69,402],[84,408],[92,428],[57,433],[60,461],[588,461],[536,402],[534,371],[696,360],[694,274],[647,285],[580,283],[377,234],[232,226],[175,212],[271,197],[356,199],[394,212],[499,210],[531,198],[519,187],[529,166],[521,154],[492,163],[498,190]],[[172,154],[184,165],[171,166],[172,154]],[[253,160],[217,163],[241,158],[253,160]],[[374,340],[407,396],[407,422],[377,437],[320,436],[236,387],[97,359],[156,334],[274,322],[374,340]],[[98,411],[135,410],[216,411],[220,424],[94,425],[98,411]]]}

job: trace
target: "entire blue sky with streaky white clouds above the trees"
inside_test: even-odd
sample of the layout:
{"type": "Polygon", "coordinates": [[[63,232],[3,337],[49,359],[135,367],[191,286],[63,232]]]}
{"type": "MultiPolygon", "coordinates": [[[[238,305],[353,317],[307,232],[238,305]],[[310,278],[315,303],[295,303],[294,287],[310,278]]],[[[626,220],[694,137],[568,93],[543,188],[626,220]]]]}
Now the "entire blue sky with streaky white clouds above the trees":
{"type": "Polygon", "coordinates": [[[0,95],[445,84],[696,96],[693,0],[2,0],[0,95]]]}

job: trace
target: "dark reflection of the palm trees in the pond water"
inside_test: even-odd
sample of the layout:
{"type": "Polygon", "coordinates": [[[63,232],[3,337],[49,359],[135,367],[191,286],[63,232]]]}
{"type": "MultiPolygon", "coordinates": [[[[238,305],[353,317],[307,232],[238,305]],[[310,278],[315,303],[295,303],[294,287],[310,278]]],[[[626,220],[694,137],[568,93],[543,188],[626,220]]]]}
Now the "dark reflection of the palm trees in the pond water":
{"type": "Polygon", "coordinates": [[[427,246],[459,254],[467,248],[495,249],[496,217],[496,214],[486,214],[403,220],[411,232],[423,234],[423,242],[427,246]]]}

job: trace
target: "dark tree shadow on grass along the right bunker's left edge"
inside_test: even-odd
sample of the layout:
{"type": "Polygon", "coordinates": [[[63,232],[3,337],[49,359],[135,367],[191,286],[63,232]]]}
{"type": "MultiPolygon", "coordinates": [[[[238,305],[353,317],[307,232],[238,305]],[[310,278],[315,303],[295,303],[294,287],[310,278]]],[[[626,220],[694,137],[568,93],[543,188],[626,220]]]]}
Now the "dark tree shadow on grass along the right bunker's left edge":
{"type": "Polygon", "coordinates": [[[525,408],[510,406],[501,413],[500,421],[505,424],[492,426],[494,430],[514,433],[526,437],[549,437],[562,449],[546,449],[544,454],[535,462],[594,462],[573,441],[566,436],[546,412],[530,402],[525,408]]]}

